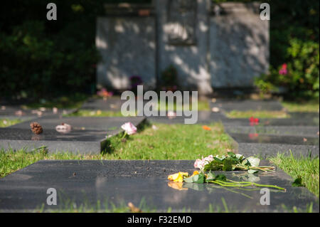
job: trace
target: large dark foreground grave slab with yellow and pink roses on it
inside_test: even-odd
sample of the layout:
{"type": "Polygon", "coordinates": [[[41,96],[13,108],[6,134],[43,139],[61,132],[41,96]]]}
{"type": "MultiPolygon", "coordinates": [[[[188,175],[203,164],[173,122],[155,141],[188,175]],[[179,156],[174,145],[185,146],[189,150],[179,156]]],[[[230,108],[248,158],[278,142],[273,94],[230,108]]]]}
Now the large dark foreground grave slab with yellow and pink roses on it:
{"type": "MultiPolygon", "coordinates": [[[[110,204],[127,206],[144,201],[156,211],[224,210],[223,200],[233,212],[276,212],[285,206],[306,211],[313,203],[319,212],[319,199],[306,188],[292,187],[292,179],[282,170],[254,177],[260,184],[276,184],[287,191],[270,190],[270,205],[261,205],[260,188],[225,189],[213,184],[173,184],[167,176],[178,171],[192,173],[192,160],[43,160],[0,179],[0,211],[35,211],[43,208],[86,206],[100,209],[110,204]],[[179,188],[180,187],[180,188],[179,188]],[[56,206],[46,204],[47,190],[56,189],[56,206]],[[177,188],[177,189],[175,189],[177,188]],[[180,190],[178,190],[180,189],[180,190]],[[98,202],[99,201],[99,202],[98,202]]],[[[263,164],[263,163],[262,163],[263,164]]],[[[265,163],[267,164],[267,163],[265,163]]],[[[218,172],[217,172],[218,174],[218,172]]],[[[228,179],[246,177],[243,171],[223,172],[228,179]]]]}

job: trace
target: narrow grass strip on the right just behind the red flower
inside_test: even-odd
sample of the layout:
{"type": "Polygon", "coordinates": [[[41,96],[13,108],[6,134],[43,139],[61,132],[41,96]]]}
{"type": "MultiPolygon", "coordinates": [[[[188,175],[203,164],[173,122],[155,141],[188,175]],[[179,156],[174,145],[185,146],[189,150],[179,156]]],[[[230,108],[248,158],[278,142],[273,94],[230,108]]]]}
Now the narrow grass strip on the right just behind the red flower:
{"type": "Polygon", "coordinates": [[[247,110],[238,111],[232,110],[225,115],[229,118],[289,118],[290,115],[285,111],[268,111],[268,110],[247,110]]]}

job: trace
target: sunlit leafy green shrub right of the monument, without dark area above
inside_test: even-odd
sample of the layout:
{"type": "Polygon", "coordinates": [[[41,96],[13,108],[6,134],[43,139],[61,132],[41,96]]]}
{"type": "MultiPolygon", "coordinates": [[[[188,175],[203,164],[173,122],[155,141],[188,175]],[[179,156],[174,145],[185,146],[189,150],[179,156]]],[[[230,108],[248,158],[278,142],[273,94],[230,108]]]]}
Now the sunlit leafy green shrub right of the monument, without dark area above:
{"type": "Polygon", "coordinates": [[[319,43],[292,38],[287,48],[287,73],[282,65],[270,67],[268,75],[261,75],[255,85],[268,93],[284,88],[290,97],[319,97],[319,43]]]}

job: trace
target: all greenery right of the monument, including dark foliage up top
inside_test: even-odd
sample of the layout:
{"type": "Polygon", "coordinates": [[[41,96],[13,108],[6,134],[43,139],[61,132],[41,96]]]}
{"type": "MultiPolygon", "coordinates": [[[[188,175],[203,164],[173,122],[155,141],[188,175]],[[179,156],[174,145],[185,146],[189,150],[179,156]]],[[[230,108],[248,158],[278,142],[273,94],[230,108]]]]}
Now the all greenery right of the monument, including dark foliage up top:
{"type": "Polygon", "coordinates": [[[290,98],[319,97],[319,1],[272,0],[270,70],[256,78],[262,93],[290,98]],[[283,64],[287,73],[279,73],[283,64]]]}

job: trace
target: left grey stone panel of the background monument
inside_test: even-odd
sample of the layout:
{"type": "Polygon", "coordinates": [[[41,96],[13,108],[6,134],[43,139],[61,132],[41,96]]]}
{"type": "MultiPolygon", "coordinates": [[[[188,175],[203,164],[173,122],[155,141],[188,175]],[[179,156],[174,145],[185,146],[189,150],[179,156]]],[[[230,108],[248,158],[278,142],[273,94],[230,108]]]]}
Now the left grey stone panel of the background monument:
{"type": "Polygon", "coordinates": [[[96,46],[102,56],[97,84],[118,90],[130,88],[129,77],[139,75],[144,85],[156,85],[156,43],[153,17],[97,19],[96,46]]]}

